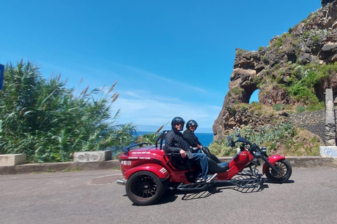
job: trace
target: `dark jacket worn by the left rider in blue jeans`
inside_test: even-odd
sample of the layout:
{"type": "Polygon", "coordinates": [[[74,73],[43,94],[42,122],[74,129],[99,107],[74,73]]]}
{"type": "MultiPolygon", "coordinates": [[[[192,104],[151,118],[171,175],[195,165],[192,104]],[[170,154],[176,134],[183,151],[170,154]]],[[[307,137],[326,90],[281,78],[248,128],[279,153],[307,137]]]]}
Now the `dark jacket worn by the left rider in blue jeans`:
{"type": "Polygon", "coordinates": [[[186,143],[183,134],[178,131],[171,130],[165,136],[165,153],[179,153],[181,149],[189,151],[190,147],[186,143]]]}

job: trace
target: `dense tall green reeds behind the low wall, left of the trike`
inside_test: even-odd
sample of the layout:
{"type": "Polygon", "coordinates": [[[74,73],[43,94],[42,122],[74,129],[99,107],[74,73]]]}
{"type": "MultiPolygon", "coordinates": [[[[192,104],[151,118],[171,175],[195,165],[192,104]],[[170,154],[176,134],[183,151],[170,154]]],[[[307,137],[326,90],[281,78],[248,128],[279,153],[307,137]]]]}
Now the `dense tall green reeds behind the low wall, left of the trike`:
{"type": "Polygon", "coordinates": [[[72,160],[78,151],[112,150],[135,141],[132,124],[119,125],[119,94],[89,87],[79,95],[60,76],[42,78],[32,63],[9,64],[0,91],[0,154],[26,153],[28,162],[72,160]]]}

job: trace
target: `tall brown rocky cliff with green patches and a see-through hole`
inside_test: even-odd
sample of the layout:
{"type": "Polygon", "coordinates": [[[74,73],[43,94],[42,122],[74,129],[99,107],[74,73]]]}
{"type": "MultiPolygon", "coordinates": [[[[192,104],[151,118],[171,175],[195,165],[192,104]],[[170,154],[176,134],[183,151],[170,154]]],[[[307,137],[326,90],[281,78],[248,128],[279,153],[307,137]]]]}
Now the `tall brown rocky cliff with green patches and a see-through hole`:
{"type": "Polygon", "coordinates": [[[256,90],[265,106],[319,104],[326,88],[337,94],[337,0],[322,1],[322,6],[267,47],[237,48],[229,90],[213,125],[214,139],[233,127],[272,124],[288,116],[254,113],[249,99],[256,90]]]}

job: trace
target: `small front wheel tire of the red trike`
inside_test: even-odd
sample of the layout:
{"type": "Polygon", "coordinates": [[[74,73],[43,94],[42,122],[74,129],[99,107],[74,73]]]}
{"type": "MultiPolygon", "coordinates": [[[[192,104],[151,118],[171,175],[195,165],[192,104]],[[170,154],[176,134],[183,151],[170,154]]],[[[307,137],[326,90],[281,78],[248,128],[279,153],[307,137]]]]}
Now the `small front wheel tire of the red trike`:
{"type": "Polygon", "coordinates": [[[274,183],[284,183],[285,181],[288,181],[292,172],[292,168],[288,160],[275,162],[275,167],[280,171],[280,173],[277,175],[272,168],[268,166],[265,170],[265,176],[267,176],[267,179],[274,183]]]}

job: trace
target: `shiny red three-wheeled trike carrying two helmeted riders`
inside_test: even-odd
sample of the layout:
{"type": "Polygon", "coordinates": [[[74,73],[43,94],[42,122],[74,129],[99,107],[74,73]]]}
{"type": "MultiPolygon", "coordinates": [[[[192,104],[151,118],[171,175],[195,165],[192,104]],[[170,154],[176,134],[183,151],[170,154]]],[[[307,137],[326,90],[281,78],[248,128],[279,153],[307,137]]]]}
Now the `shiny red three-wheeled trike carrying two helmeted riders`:
{"type": "Polygon", "coordinates": [[[126,186],[126,195],[136,205],[157,202],[167,188],[201,191],[211,186],[232,185],[263,189],[263,174],[274,183],[284,183],[291,176],[291,165],[284,155],[267,156],[267,148],[260,148],[237,135],[236,141],[227,137],[232,147],[241,143],[239,152],[230,162],[221,162],[208,148],[202,148],[208,157],[210,174],[218,175],[213,181],[196,183],[198,166],[190,164],[188,160],[176,160],[180,158],[179,153],[165,153],[162,149],[167,132],[161,133],[155,145],[141,143],[126,146],[119,157],[124,179],[117,183],[126,186]],[[258,174],[256,169],[260,161],[264,162],[263,174],[258,174]],[[237,175],[249,177],[233,179],[237,175]]]}

